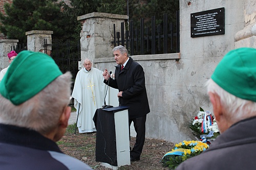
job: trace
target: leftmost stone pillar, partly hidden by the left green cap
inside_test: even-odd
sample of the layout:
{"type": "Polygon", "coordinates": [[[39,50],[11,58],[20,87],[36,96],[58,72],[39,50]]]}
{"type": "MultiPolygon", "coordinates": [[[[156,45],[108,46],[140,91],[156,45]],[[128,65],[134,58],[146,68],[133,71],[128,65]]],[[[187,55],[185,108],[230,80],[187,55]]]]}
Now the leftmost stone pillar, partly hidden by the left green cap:
{"type": "Polygon", "coordinates": [[[0,39],[0,71],[9,65],[7,54],[17,45],[17,39],[0,39]]]}

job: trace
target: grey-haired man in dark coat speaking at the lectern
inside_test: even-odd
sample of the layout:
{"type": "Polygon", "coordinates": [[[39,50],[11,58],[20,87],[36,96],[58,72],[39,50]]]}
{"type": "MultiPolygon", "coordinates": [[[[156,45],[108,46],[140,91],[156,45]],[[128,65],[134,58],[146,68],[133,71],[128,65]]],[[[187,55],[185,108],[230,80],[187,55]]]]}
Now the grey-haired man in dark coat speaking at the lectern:
{"type": "Polygon", "coordinates": [[[144,71],[140,64],[128,56],[122,45],[113,49],[116,63],[115,79],[110,78],[107,69],[103,72],[104,83],[119,90],[117,94],[120,106],[129,106],[129,125],[134,123],[136,143],[131,150],[131,161],[140,160],[145,141],[146,114],[150,112],[148,105],[144,71]]]}

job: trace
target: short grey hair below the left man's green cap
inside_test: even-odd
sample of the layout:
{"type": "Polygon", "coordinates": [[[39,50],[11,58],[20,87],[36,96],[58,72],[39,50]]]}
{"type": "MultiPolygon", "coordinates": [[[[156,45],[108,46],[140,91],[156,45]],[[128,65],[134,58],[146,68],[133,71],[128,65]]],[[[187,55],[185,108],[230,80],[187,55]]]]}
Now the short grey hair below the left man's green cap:
{"type": "Polygon", "coordinates": [[[70,72],[60,75],[28,101],[15,106],[0,94],[0,123],[25,127],[47,134],[58,125],[70,102],[70,72]]]}

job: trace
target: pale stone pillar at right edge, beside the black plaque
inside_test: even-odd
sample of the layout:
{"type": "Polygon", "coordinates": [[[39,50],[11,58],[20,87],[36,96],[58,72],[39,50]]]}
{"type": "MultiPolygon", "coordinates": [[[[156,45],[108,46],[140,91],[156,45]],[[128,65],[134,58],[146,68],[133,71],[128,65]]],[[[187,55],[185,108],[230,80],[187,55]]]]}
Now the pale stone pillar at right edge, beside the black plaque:
{"type": "Polygon", "coordinates": [[[246,0],[244,8],[243,30],[236,33],[235,47],[252,47],[256,48],[256,4],[255,1],[246,0]]]}

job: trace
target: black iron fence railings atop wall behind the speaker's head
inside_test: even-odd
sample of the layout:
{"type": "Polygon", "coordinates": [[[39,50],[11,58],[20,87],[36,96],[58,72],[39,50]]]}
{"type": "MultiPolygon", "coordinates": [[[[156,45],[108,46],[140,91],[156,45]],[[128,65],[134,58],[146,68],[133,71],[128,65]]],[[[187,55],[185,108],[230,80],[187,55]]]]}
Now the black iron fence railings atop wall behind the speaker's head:
{"type": "Polygon", "coordinates": [[[133,21],[129,23],[129,30],[124,33],[124,22],[121,31],[116,32],[114,24],[114,46],[126,46],[130,55],[167,54],[180,52],[179,11],[176,11],[176,23],[168,23],[167,14],[156,27],[156,18],[151,18],[151,28],[144,26],[144,18],[140,19],[140,29],[134,29],[133,21]]]}

